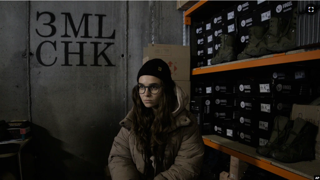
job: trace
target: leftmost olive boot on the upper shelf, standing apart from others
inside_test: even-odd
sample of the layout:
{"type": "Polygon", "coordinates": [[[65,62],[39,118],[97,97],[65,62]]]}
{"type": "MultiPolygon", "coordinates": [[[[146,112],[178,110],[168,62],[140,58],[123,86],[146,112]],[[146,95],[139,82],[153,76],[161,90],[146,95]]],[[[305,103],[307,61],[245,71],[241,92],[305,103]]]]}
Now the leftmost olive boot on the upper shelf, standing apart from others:
{"type": "Polygon", "coordinates": [[[222,34],[219,36],[221,45],[218,53],[211,60],[211,64],[219,64],[236,60],[236,38],[231,35],[222,34]]]}

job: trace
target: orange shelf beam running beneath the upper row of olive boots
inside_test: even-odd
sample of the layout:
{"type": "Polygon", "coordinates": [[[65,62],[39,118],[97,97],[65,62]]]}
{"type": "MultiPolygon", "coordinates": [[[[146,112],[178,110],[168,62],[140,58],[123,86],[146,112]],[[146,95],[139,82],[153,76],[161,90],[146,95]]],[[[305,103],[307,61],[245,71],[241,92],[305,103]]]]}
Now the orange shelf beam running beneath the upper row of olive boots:
{"type": "Polygon", "coordinates": [[[320,59],[320,50],[308,51],[308,52],[296,53],[296,54],[288,54],[288,55],[285,55],[284,53],[274,54],[273,57],[271,58],[238,62],[238,63],[216,66],[211,68],[196,69],[192,71],[192,75],[252,68],[252,67],[258,67],[258,66],[268,66],[268,65],[274,65],[274,64],[283,64],[288,62],[308,61],[313,59],[320,59]]]}

